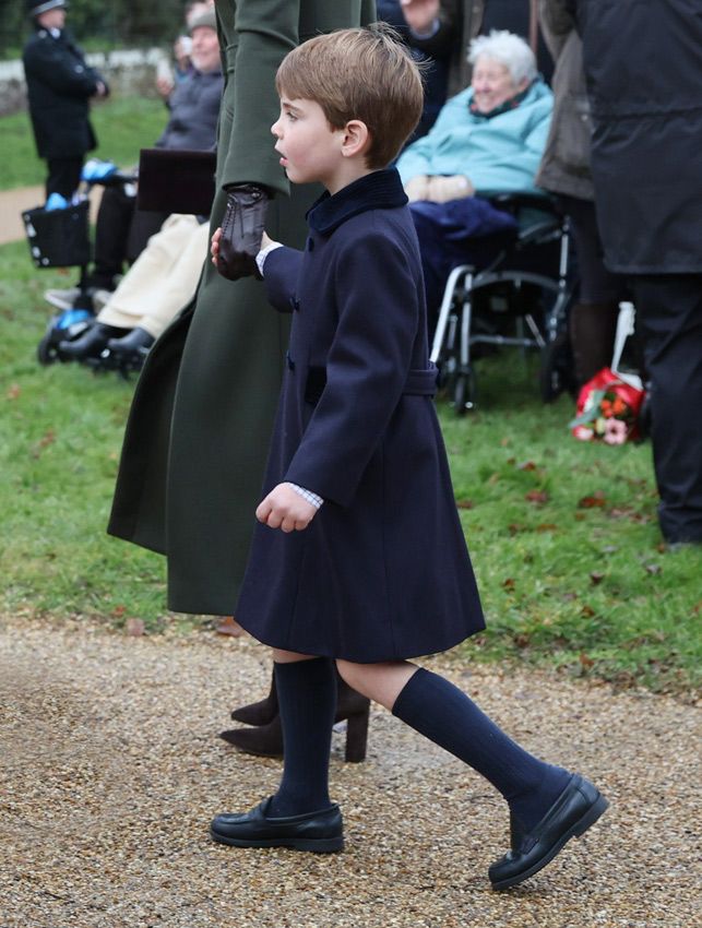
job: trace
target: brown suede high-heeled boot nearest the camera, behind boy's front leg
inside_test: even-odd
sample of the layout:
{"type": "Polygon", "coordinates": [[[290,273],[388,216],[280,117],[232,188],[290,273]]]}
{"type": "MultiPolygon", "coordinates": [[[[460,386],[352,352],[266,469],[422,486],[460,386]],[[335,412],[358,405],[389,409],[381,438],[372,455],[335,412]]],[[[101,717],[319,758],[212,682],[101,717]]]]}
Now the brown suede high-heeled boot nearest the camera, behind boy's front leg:
{"type": "MultiPolygon", "coordinates": [[[[370,717],[370,700],[353,690],[338,674],[336,675],[336,715],[334,723],[346,722],[346,750],[344,760],[347,763],[360,763],[366,760],[368,746],[368,719],[370,717]]],[[[270,699],[271,693],[266,700],[270,699]]],[[[251,707],[258,705],[253,703],[251,707]]],[[[249,709],[249,706],[243,706],[249,709]]],[[[237,718],[239,716],[239,710],[237,718]]],[[[234,716],[234,713],[233,713],[234,716]]],[[[247,754],[257,754],[264,758],[283,757],[283,728],[281,716],[277,713],[277,699],[275,701],[275,714],[267,724],[253,728],[230,728],[222,731],[219,737],[234,745],[247,754]]]]}

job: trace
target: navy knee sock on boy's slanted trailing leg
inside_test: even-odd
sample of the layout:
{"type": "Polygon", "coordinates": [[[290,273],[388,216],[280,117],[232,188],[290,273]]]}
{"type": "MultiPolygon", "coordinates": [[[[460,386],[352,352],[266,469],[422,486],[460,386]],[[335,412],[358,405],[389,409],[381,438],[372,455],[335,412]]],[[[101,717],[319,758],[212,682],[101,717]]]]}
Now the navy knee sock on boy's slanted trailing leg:
{"type": "Polygon", "coordinates": [[[457,687],[419,668],[393,715],[483,774],[530,831],[564,789],[571,774],[520,748],[457,687]]]}

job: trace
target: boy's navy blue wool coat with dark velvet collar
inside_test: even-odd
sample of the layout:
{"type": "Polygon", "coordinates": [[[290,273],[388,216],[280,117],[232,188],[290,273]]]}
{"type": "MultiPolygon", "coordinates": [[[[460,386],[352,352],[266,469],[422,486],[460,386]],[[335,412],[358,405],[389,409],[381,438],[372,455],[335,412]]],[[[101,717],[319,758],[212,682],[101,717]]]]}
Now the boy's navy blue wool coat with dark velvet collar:
{"type": "Polygon", "coordinates": [[[263,492],[322,496],[304,532],[258,524],[235,615],[259,641],[376,663],[485,628],[432,403],[417,238],[394,169],[326,194],[304,252],[269,254],[293,312],[263,492]]]}

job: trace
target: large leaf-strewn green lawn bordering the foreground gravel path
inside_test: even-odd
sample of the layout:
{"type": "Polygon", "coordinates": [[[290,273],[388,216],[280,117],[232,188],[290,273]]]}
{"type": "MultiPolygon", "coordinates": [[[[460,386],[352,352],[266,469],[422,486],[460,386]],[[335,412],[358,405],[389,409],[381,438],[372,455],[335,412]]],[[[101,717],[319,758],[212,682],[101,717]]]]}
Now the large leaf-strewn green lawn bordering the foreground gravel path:
{"type": "MultiPolygon", "coordinates": [[[[0,609],[192,622],[165,612],[163,559],[105,534],[133,382],[35,359],[41,292],[73,279],[35,271],[25,242],[0,248],[0,609]]],[[[439,403],[489,626],[466,656],[699,685],[702,550],[661,544],[650,444],[572,439],[572,401],[543,405],[514,353],[477,376],[477,412],[439,403]]]]}

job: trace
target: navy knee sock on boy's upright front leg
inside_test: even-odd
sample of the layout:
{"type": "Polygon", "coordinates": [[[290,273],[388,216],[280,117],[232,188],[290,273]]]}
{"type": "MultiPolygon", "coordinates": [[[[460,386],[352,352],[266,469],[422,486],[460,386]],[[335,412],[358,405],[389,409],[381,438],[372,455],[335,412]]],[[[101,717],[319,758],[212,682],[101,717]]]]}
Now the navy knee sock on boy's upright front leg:
{"type": "Polygon", "coordinates": [[[326,657],[274,664],[283,727],[283,778],[271,802],[273,817],[326,809],[329,752],[336,714],[336,673],[326,657]]]}

